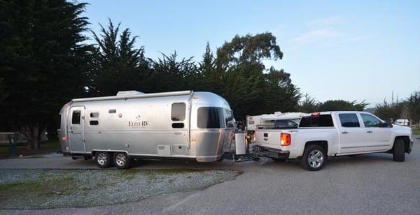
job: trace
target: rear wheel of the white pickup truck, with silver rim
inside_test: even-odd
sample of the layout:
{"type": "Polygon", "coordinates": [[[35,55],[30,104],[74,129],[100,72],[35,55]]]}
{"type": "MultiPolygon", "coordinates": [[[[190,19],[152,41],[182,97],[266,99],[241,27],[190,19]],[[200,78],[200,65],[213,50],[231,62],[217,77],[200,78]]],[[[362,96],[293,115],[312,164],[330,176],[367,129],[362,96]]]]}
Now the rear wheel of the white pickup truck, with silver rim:
{"type": "Polygon", "coordinates": [[[327,155],[323,147],[311,144],[304,149],[300,165],[309,171],[321,170],[327,160],[327,155]]]}

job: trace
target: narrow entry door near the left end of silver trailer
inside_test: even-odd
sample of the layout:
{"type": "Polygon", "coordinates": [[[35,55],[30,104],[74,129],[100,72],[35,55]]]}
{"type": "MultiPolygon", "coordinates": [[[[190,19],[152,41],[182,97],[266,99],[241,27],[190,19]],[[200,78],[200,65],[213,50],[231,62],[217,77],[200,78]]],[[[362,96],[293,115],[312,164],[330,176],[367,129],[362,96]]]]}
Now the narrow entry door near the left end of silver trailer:
{"type": "Polygon", "coordinates": [[[69,116],[69,145],[71,153],[85,153],[85,107],[71,107],[69,116]]]}

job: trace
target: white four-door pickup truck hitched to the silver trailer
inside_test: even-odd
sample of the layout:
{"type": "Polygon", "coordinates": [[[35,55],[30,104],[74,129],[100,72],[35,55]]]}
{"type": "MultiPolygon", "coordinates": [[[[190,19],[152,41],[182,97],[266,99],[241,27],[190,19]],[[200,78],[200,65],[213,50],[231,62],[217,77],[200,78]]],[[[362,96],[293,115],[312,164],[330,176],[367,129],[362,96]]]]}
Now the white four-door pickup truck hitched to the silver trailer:
{"type": "Polygon", "coordinates": [[[368,112],[306,114],[297,128],[257,129],[254,151],[274,160],[300,159],[303,168],[321,170],[328,156],[387,152],[404,161],[412,150],[412,131],[386,124],[368,112]]]}

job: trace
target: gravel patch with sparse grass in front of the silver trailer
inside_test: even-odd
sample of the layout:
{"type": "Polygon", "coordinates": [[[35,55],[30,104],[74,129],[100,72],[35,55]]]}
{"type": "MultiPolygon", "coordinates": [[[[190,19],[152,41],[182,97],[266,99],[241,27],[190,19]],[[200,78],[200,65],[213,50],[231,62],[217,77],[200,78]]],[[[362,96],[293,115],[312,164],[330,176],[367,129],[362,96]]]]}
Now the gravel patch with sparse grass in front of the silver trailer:
{"type": "Polygon", "coordinates": [[[0,170],[0,209],[137,202],[235,179],[231,170],[0,170]]]}

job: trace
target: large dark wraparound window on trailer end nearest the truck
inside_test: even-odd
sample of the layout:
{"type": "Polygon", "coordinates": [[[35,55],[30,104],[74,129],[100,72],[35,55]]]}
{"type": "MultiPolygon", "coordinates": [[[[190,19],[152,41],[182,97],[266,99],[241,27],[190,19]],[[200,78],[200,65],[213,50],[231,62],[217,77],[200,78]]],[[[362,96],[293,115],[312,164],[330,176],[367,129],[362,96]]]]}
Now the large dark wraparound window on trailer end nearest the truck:
{"type": "Polygon", "coordinates": [[[222,107],[200,107],[197,111],[198,128],[225,128],[222,107]]]}

